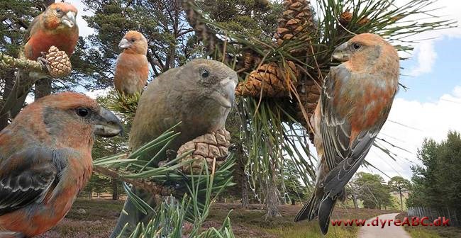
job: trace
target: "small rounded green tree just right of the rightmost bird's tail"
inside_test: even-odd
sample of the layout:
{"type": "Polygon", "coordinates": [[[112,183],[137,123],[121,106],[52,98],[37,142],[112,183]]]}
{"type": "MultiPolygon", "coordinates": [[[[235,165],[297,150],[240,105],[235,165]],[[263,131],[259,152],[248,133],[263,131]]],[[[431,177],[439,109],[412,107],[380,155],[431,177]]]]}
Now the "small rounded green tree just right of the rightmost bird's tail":
{"type": "Polygon", "coordinates": [[[389,186],[379,174],[358,172],[350,181],[357,188],[357,198],[363,201],[364,208],[387,208],[392,205],[389,186]]]}

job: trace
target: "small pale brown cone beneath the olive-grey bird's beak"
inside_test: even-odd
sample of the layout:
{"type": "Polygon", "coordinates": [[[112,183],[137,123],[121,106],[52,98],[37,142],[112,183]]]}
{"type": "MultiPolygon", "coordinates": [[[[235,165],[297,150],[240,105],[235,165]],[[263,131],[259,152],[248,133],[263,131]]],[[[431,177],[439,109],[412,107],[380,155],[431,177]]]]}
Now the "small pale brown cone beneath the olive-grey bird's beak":
{"type": "Polygon", "coordinates": [[[199,174],[204,162],[208,164],[208,169],[213,168],[213,159],[216,159],[216,169],[226,162],[228,148],[230,146],[230,134],[226,129],[216,130],[205,135],[196,137],[194,140],[187,142],[179,147],[177,155],[181,156],[185,152],[195,149],[194,152],[182,159],[182,162],[196,159],[192,164],[182,167],[186,174],[199,174]]]}

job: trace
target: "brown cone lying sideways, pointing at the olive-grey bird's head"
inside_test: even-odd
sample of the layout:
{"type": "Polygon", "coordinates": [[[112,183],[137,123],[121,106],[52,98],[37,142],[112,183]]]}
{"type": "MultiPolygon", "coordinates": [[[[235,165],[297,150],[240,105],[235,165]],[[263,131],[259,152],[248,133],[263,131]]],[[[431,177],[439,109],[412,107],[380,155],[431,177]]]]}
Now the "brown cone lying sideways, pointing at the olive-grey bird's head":
{"type": "Polygon", "coordinates": [[[239,96],[260,97],[261,90],[263,97],[283,97],[289,95],[288,82],[291,80],[296,85],[299,77],[299,69],[296,64],[287,61],[289,70],[280,69],[276,62],[262,64],[252,71],[244,82],[240,82],[235,89],[239,96]]]}

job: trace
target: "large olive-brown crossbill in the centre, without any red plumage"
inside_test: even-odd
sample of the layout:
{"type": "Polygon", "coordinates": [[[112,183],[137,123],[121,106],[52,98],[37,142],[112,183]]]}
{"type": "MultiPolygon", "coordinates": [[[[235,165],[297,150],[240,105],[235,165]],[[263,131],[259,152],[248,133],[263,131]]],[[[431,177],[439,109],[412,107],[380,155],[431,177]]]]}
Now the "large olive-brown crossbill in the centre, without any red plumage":
{"type": "MultiPolygon", "coordinates": [[[[179,122],[175,131],[181,134],[167,149],[177,151],[195,137],[224,128],[233,107],[237,81],[237,73],[215,60],[191,60],[160,74],[140,97],[130,131],[130,149],[138,149],[179,122]]],[[[145,156],[142,159],[150,159],[155,154],[145,156]]],[[[166,155],[163,156],[166,159],[166,155]]],[[[135,187],[132,191],[155,208],[154,194],[135,187]]],[[[121,213],[111,237],[118,237],[127,223],[126,234],[130,234],[138,222],[148,224],[152,219],[152,213],[143,214],[130,199],[126,200],[123,210],[128,215],[121,213]]]]}

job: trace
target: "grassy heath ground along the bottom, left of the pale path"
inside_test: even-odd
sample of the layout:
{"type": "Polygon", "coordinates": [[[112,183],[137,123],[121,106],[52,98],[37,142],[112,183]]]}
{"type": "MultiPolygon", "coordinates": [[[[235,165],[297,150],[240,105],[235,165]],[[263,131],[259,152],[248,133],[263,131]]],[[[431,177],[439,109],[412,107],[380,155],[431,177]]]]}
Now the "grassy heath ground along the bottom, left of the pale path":
{"type": "MultiPolygon", "coordinates": [[[[106,238],[111,234],[118,215],[123,207],[123,201],[77,199],[72,210],[56,227],[39,236],[40,238],[106,238]],[[85,212],[83,212],[83,210],[85,212]]],[[[233,232],[242,238],[314,238],[323,237],[317,222],[293,222],[299,211],[299,205],[282,205],[282,217],[264,220],[265,210],[262,205],[251,205],[249,210],[240,208],[239,204],[216,203],[212,206],[209,218],[204,227],[220,227],[224,217],[230,213],[233,232]]],[[[392,212],[374,209],[344,209],[337,208],[333,219],[366,219],[392,212]]],[[[332,227],[328,237],[357,237],[359,227],[332,227]]]]}

